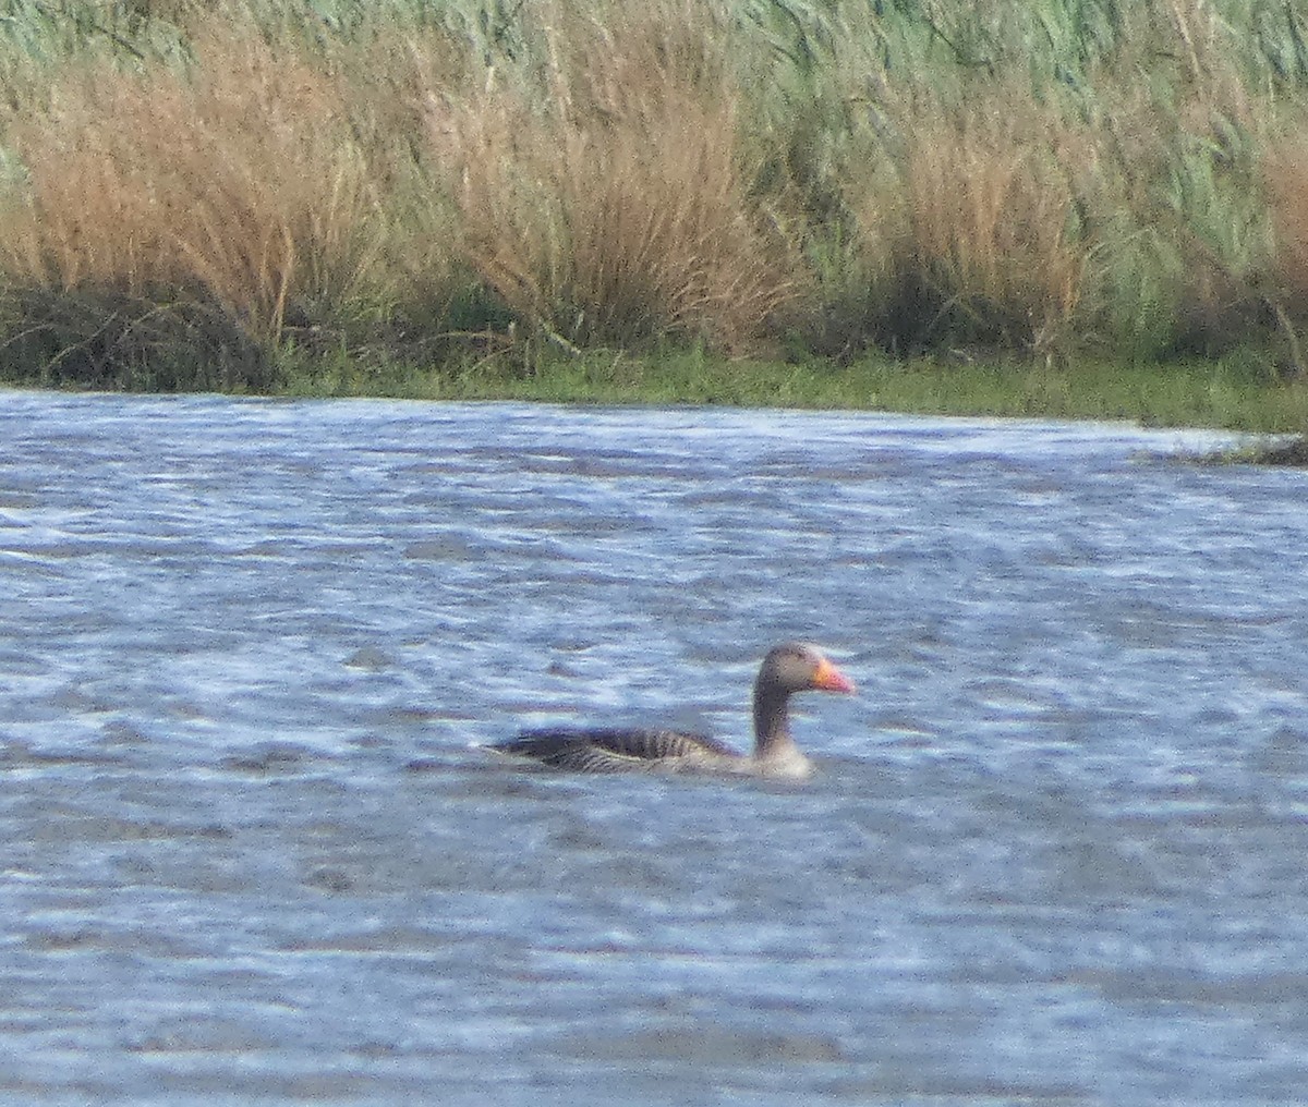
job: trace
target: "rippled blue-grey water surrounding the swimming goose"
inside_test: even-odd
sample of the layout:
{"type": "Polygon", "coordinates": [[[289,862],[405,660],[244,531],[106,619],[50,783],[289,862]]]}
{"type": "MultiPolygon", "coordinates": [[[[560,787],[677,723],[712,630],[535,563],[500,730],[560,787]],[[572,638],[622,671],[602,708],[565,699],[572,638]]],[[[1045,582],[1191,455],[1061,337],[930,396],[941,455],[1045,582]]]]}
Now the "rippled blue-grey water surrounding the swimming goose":
{"type": "Polygon", "coordinates": [[[1308,474],[1211,435],[0,395],[0,1099],[1308,1087],[1308,474]],[[585,778],[544,721],[807,784],[585,778]]]}

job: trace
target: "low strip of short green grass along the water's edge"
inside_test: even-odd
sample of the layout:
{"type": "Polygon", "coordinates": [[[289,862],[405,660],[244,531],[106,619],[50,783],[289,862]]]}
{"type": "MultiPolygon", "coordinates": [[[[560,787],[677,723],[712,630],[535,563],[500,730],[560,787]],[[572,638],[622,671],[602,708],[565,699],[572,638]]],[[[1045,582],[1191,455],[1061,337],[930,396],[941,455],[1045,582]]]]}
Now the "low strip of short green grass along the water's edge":
{"type": "Polygon", "coordinates": [[[561,404],[723,404],[917,414],[1125,420],[1258,433],[1308,429],[1308,382],[1284,380],[1249,358],[1033,369],[1001,362],[892,361],[850,365],[729,361],[702,352],[636,357],[591,350],[441,367],[360,365],[349,357],[286,365],[286,396],[534,400],[561,404]]]}

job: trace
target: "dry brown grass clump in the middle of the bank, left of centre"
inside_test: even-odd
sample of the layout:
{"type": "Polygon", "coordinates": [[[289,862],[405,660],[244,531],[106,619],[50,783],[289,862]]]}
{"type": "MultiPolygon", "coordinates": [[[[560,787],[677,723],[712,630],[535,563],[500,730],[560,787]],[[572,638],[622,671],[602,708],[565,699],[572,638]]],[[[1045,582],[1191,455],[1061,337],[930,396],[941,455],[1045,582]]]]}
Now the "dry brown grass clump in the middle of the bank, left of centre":
{"type": "MultiPolygon", "coordinates": [[[[556,13],[557,14],[557,13],[556,13]]],[[[742,350],[794,291],[736,161],[736,93],[697,16],[551,35],[544,95],[433,98],[466,256],[528,325],[578,345],[742,350]],[[562,56],[564,50],[576,56],[562,56]]]]}

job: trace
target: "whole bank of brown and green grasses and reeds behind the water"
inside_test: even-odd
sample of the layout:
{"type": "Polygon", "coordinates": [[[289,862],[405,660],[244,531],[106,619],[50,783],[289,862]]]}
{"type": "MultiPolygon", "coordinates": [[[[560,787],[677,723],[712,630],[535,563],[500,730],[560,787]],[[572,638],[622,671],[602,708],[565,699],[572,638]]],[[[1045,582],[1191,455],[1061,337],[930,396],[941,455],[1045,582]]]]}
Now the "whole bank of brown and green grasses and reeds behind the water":
{"type": "Polygon", "coordinates": [[[0,0],[0,379],[1308,430],[1308,12],[0,0]]]}

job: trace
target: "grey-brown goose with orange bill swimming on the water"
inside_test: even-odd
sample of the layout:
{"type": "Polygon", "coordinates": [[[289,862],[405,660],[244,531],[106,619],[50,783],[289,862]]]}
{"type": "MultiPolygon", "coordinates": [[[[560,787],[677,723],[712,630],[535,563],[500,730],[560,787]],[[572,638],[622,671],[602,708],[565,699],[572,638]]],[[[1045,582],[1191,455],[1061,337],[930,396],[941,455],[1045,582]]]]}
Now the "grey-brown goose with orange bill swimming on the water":
{"type": "Polygon", "coordinates": [[[576,772],[657,768],[802,778],[812,771],[790,737],[797,691],[854,691],[853,682],[816,646],[787,642],[768,651],[753,682],[753,753],[704,735],[645,728],[548,727],[523,731],[490,749],[576,772]]]}

